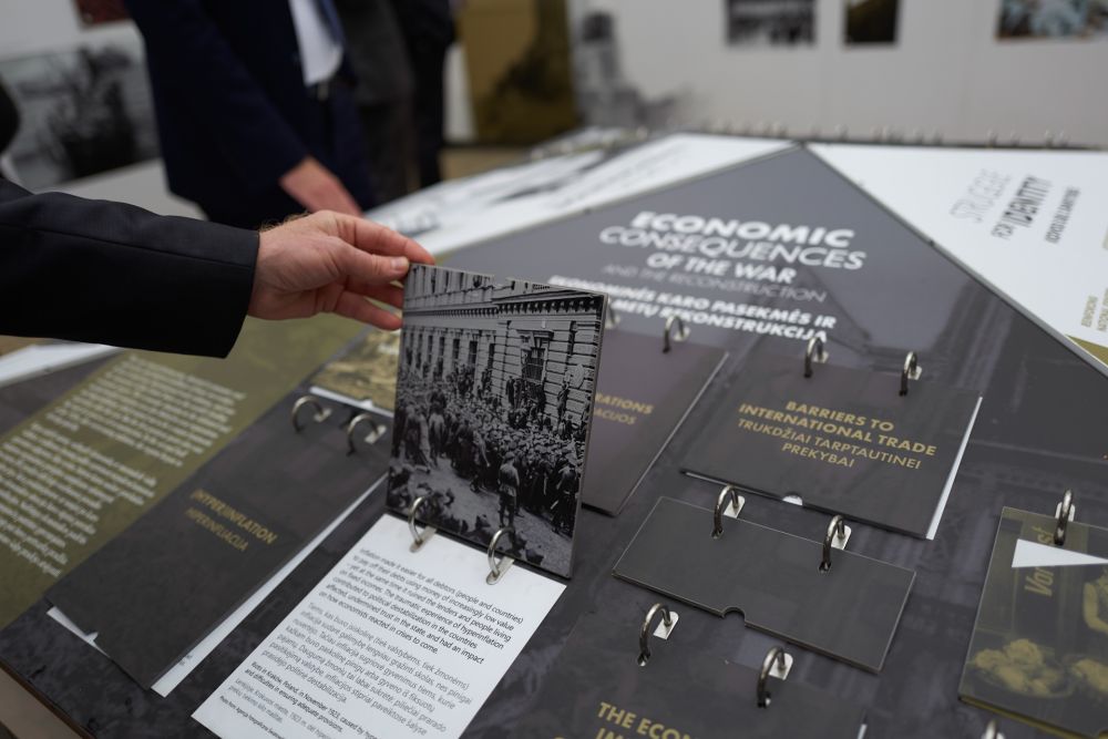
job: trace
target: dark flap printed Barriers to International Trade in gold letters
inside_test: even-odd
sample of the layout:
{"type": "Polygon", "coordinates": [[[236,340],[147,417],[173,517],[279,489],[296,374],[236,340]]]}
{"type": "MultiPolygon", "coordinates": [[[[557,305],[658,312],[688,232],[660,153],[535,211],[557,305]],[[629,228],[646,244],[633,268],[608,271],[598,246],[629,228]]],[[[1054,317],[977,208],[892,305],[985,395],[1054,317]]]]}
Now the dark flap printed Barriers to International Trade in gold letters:
{"type": "Polygon", "coordinates": [[[714,407],[683,466],[698,476],[776,497],[796,494],[806,506],[926,536],[977,397],[923,380],[910,388],[901,396],[900,376],[894,372],[860,372],[834,365],[818,365],[806,378],[801,353],[755,355],[714,407]],[[789,403],[841,415],[789,411],[797,408],[789,403]],[[841,432],[743,412],[747,407],[825,423],[841,432]],[[888,441],[893,438],[934,452],[911,451],[920,447],[905,451],[888,441]],[[879,456],[864,455],[869,453],[879,456]]]}

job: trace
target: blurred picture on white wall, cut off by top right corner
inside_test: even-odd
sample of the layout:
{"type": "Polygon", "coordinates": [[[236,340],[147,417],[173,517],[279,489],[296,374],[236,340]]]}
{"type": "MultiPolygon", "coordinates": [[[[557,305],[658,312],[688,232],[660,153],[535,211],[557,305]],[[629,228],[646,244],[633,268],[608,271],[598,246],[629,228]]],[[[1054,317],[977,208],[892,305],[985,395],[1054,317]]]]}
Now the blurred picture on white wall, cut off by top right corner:
{"type": "Polygon", "coordinates": [[[1108,39],[1108,0],[1002,0],[1001,39],[1108,39]]]}

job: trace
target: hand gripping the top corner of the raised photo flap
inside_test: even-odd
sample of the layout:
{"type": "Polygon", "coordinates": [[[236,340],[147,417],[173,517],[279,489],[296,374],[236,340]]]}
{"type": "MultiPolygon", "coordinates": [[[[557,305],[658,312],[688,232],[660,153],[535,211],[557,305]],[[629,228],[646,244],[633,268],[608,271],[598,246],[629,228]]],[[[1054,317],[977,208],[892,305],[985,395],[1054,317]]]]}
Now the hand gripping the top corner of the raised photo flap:
{"type": "Polygon", "coordinates": [[[256,318],[307,318],[334,312],[391,331],[400,317],[367,298],[400,308],[393,283],[412,261],[434,257],[397,232],[361,217],[321,211],[259,234],[254,292],[256,318]]]}

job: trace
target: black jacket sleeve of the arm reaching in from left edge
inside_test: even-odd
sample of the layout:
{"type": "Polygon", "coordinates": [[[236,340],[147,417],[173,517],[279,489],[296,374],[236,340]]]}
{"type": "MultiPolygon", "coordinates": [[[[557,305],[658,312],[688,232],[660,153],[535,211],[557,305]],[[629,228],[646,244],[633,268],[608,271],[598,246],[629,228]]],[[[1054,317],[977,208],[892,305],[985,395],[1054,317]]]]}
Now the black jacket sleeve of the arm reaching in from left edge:
{"type": "Polygon", "coordinates": [[[0,333],[226,356],[258,235],[0,179],[0,333]]]}

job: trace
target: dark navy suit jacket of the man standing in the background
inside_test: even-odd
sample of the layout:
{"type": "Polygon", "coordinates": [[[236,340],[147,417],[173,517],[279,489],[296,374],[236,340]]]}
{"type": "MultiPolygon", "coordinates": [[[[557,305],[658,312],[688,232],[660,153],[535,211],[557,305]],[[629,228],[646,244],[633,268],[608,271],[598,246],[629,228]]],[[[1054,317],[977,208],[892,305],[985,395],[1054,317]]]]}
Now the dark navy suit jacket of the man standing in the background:
{"type": "Polygon", "coordinates": [[[311,154],[372,205],[349,91],[321,103],[305,88],[287,0],[126,7],[146,41],[170,189],[209,214],[246,198],[284,207],[267,216],[279,218],[302,208],[280,197],[277,181],[311,154]]]}

